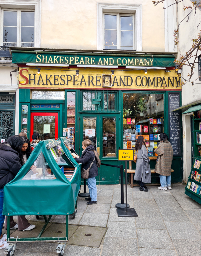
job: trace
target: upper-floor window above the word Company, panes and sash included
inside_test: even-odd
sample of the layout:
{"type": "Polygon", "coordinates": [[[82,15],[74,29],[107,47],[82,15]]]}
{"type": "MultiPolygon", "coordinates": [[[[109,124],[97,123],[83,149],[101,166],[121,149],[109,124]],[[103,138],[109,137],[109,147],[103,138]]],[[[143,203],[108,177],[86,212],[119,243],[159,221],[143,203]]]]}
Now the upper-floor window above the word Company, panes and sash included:
{"type": "Polygon", "coordinates": [[[135,50],[134,14],[103,15],[103,49],[135,50]]]}

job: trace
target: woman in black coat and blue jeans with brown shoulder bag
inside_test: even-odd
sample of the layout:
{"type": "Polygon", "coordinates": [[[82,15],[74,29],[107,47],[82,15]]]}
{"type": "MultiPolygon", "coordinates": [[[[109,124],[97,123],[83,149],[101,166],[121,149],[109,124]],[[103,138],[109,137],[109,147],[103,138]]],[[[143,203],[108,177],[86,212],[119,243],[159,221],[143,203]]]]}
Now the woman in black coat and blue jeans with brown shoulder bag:
{"type": "Polygon", "coordinates": [[[86,139],[82,141],[82,156],[80,158],[74,157],[77,163],[82,163],[82,168],[87,170],[90,164],[93,162],[89,169],[89,178],[87,179],[87,186],[89,188],[90,197],[85,198],[86,204],[97,204],[97,188],[96,188],[96,176],[98,176],[98,167],[95,153],[93,152],[94,146],[91,140],[86,139]]]}

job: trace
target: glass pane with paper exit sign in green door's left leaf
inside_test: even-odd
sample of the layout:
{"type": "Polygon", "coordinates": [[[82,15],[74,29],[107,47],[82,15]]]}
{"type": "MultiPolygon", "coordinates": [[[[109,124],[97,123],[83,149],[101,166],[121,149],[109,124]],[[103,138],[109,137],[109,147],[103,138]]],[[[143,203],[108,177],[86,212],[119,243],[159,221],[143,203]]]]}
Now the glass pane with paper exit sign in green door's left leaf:
{"type": "Polygon", "coordinates": [[[96,117],[83,117],[83,140],[89,139],[96,150],[96,117]],[[86,135],[86,129],[92,130],[92,135],[86,135]]]}

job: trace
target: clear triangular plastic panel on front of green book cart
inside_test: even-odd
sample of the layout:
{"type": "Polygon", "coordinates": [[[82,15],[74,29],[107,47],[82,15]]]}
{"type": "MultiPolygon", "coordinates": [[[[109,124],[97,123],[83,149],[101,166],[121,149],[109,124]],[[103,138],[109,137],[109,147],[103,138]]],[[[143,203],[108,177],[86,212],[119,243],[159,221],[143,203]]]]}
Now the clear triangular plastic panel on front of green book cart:
{"type": "Polygon", "coordinates": [[[22,180],[55,180],[56,177],[48,166],[43,153],[38,156],[33,166],[22,180]]]}

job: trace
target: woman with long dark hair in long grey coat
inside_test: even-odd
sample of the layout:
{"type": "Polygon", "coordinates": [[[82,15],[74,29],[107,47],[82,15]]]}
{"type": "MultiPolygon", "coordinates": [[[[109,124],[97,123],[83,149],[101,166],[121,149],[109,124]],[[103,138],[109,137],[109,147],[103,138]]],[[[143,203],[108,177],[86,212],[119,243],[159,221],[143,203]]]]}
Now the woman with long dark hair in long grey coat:
{"type": "Polygon", "coordinates": [[[135,145],[135,151],[137,156],[135,180],[139,180],[141,191],[148,191],[145,187],[145,183],[151,183],[151,169],[149,165],[149,157],[147,153],[147,147],[144,141],[144,137],[139,136],[135,145]]]}

